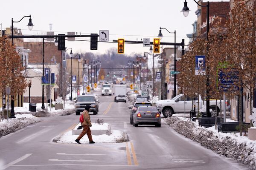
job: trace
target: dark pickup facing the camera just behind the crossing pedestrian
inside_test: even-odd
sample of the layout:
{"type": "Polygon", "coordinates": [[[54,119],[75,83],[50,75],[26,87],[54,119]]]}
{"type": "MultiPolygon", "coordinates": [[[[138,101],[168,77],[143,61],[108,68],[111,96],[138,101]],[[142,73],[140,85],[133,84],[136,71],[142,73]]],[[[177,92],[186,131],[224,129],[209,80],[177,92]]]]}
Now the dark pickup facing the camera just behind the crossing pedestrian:
{"type": "Polygon", "coordinates": [[[93,95],[82,95],[77,96],[76,115],[80,115],[80,112],[84,111],[86,105],[90,106],[90,112],[93,112],[93,114],[98,114],[99,100],[95,99],[95,96],[93,95]]]}

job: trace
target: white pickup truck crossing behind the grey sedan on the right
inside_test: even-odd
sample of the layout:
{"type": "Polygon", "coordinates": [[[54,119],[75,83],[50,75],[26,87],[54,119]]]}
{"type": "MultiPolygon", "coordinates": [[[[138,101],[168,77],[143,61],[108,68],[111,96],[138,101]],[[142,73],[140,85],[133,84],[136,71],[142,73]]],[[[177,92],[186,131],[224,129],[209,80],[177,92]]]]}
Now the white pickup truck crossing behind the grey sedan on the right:
{"type": "MultiPolygon", "coordinates": [[[[193,105],[195,105],[195,109],[197,111],[198,97],[193,99],[186,97],[186,100],[185,100],[185,96],[183,94],[177,95],[172,99],[158,100],[156,104],[159,112],[163,113],[163,116],[168,117],[168,116],[172,116],[173,113],[184,113],[184,112],[189,113],[192,109],[194,109],[194,106],[192,106],[192,102],[193,102],[193,105]]],[[[206,101],[204,101],[204,103],[206,104],[206,101]]],[[[199,109],[201,109],[202,104],[203,104],[203,101],[201,96],[199,95],[199,109]]],[[[215,111],[215,104],[216,104],[215,100],[210,100],[210,108],[212,109],[212,116],[215,116],[216,113],[218,116],[218,113],[220,111],[220,101],[219,100],[217,101],[217,112],[215,111]]],[[[226,108],[226,104],[227,102],[221,101],[222,111],[224,106],[226,108]]]]}

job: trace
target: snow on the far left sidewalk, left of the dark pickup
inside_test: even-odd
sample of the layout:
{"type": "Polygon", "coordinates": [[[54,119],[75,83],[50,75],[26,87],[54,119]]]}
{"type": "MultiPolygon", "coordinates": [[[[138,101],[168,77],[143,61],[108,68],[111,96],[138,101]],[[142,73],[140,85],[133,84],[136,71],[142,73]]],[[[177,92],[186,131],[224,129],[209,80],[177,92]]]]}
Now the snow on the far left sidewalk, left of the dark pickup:
{"type": "MultiPolygon", "coordinates": [[[[54,104],[54,102],[53,102],[54,104]]],[[[45,107],[46,107],[46,103],[44,104],[45,107]]],[[[65,108],[62,110],[55,110],[55,108],[51,108],[51,111],[50,111],[50,108],[48,106],[48,111],[46,111],[46,108],[45,110],[42,110],[41,109],[41,106],[42,106],[42,103],[37,103],[37,111],[36,112],[30,112],[29,111],[29,103],[23,103],[23,107],[15,107],[14,110],[15,110],[15,113],[18,113],[18,114],[32,114],[33,116],[37,116],[37,117],[44,117],[44,116],[65,116],[65,115],[70,115],[72,113],[74,113],[76,111],[76,108],[75,108],[75,102],[73,101],[69,101],[67,100],[65,102],[65,108]]]]}

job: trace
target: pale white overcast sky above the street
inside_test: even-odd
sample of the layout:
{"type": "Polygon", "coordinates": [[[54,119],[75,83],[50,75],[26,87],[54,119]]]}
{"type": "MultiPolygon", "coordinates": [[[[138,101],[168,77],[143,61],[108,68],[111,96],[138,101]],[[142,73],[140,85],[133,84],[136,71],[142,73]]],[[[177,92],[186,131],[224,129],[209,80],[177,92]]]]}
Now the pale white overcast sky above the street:
{"type": "MultiPolygon", "coordinates": [[[[161,26],[170,32],[176,29],[176,41],[181,42],[184,38],[187,43],[189,40],[186,34],[192,33],[192,23],[197,20],[197,5],[193,0],[187,0],[191,11],[188,17],[184,17],[180,12],[183,2],[184,0],[5,0],[0,10],[0,23],[3,28],[10,27],[12,18],[18,21],[31,14],[32,23],[35,25],[32,31],[28,31],[26,26],[28,18],[14,23],[14,27],[21,28],[23,34],[46,34],[45,31],[50,31],[49,23],[52,23],[55,34],[67,34],[67,31],[99,34],[99,30],[109,30],[111,42],[118,38],[151,38],[152,41],[157,37],[161,26]]],[[[165,30],[162,34],[162,42],[174,42],[174,34],[165,30]]],[[[116,48],[117,44],[99,42],[98,50],[91,51],[90,42],[66,41],[66,47],[78,53],[105,53],[109,48],[116,48]]],[[[125,54],[143,53],[148,49],[143,45],[125,44],[125,54]]]]}

